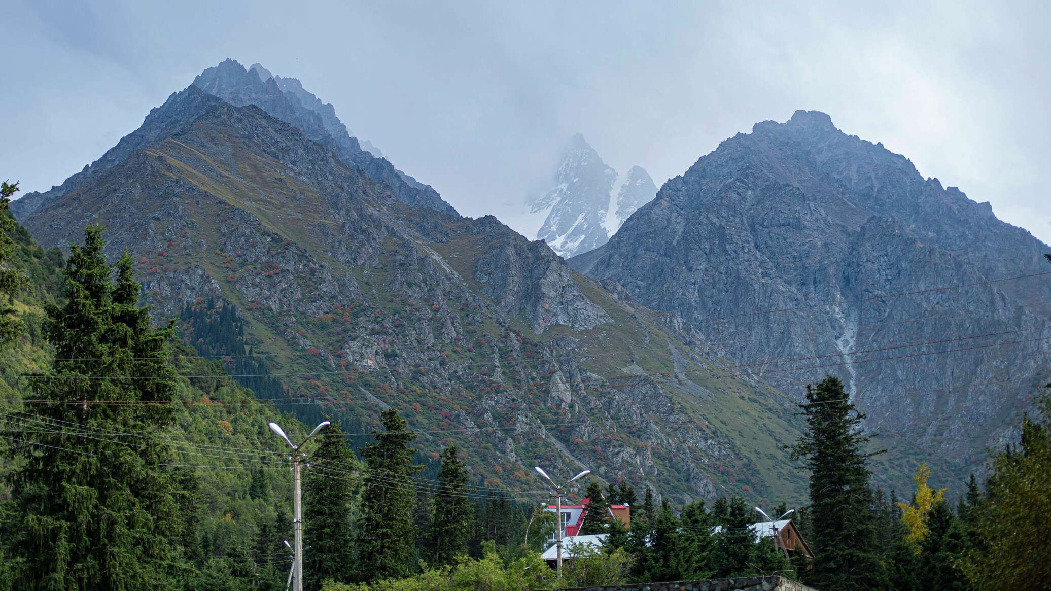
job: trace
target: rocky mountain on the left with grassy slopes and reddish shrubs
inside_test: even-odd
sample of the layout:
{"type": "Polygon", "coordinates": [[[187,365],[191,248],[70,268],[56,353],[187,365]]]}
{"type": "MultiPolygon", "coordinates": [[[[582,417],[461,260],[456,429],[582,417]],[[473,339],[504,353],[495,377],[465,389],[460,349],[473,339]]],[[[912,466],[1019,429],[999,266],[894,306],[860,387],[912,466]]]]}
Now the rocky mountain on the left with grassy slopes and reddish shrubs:
{"type": "Polygon", "coordinates": [[[782,448],[799,420],[775,388],[543,242],[411,202],[348,164],[276,77],[224,64],[152,111],[118,163],[25,216],[33,236],[65,248],[104,224],[159,319],[238,319],[252,366],[225,366],[256,395],[365,429],[396,407],[425,454],[457,443],[472,480],[508,494],[539,498],[542,465],[676,501],[801,498],[782,448]]]}

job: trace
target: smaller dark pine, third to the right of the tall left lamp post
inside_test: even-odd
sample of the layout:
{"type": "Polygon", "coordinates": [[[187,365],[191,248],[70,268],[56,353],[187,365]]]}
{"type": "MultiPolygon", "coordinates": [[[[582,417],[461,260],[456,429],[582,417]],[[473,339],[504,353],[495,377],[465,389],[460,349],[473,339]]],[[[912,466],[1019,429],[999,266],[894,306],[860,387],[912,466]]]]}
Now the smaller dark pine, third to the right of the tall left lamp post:
{"type": "Polygon", "coordinates": [[[425,536],[426,561],[431,566],[448,566],[467,554],[474,509],[467,496],[467,463],[459,449],[449,446],[441,452],[438,491],[434,496],[434,519],[425,536]]]}

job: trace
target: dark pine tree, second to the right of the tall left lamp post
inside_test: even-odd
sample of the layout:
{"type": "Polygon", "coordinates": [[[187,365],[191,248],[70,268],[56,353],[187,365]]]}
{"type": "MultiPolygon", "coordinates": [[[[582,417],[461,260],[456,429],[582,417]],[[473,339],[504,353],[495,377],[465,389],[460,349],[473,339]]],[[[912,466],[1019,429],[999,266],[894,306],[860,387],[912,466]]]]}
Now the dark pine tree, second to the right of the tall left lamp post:
{"type": "Polygon", "coordinates": [[[376,443],[362,448],[366,478],[362,516],[354,542],[358,576],[365,580],[397,578],[414,568],[413,517],[416,494],[412,475],[415,449],[409,444],[416,433],[394,409],[382,414],[384,432],[373,432],[376,443]]]}

